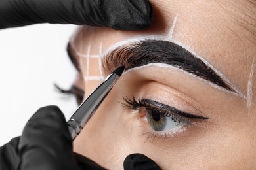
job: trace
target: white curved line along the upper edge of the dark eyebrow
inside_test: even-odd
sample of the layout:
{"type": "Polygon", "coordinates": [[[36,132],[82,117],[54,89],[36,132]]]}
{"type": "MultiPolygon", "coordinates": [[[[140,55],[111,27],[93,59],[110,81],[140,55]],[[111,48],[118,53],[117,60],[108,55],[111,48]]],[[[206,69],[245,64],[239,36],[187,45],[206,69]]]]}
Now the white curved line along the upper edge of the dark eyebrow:
{"type": "MultiPolygon", "coordinates": [[[[124,41],[121,42],[117,42],[116,44],[110,46],[106,52],[104,52],[104,55],[108,54],[109,52],[112,52],[114,49],[118,48],[119,46],[123,46],[123,45],[127,45],[127,44],[131,44],[133,42],[140,42],[140,41],[144,41],[144,40],[162,40],[162,41],[169,41],[169,42],[173,42],[179,46],[182,46],[182,48],[186,49],[188,52],[190,52],[191,54],[193,54],[196,58],[200,59],[203,61],[203,63],[205,63],[205,65],[207,65],[208,67],[210,67],[211,69],[213,69],[213,71],[215,71],[215,73],[217,73],[217,75],[219,75],[222,80],[224,82],[226,82],[226,84],[228,84],[230,86],[230,88],[232,88],[232,90],[234,90],[234,92],[238,93],[238,95],[244,99],[247,99],[247,97],[245,97],[245,95],[240,92],[240,90],[238,90],[238,88],[236,88],[229,80],[228,78],[226,78],[222,73],[220,73],[219,71],[217,71],[217,69],[215,69],[211,64],[209,64],[205,59],[203,59],[201,56],[199,56],[196,52],[194,52],[194,50],[192,50],[189,46],[187,46],[186,44],[182,44],[182,42],[176,41],[174,39],[170,39],[170,37],[168,37],[168,35],[143,35],[143,36],[137,36],[137,37],[131,37],[129,39],[126,39],[124,41]]],[[[224,89],[224,88],[221,88],[224,89]]],[[[225,90],[226,91],[226,90],[225,90]]]]}

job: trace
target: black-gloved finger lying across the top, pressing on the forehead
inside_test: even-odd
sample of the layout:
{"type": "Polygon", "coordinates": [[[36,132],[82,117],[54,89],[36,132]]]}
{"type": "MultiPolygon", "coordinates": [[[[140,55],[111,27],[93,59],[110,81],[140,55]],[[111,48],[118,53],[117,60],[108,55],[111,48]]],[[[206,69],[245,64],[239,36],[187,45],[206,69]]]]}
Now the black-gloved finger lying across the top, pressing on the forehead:
{"type": "Polygon", "coordinates": [[[152,19],[148,0],[0,0],[0,29],[49,22],[139,30],[152,19]]]}

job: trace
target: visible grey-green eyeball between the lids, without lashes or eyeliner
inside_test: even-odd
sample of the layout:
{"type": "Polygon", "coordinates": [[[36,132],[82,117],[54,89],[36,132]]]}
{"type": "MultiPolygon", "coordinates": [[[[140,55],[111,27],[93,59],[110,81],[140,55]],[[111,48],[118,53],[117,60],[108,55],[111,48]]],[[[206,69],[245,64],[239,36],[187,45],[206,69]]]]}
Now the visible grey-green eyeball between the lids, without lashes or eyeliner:
{"type": "Polygon", "coordinates": [[[183,127],[187,124],[183,120],[173,120],[170,117],[163,116],[164,114],[160,112],[160,110],[146,109],[143,107],[141,111],[146,112],[148,124],[154,131],[171,131],[177,127],[183,127]]]}

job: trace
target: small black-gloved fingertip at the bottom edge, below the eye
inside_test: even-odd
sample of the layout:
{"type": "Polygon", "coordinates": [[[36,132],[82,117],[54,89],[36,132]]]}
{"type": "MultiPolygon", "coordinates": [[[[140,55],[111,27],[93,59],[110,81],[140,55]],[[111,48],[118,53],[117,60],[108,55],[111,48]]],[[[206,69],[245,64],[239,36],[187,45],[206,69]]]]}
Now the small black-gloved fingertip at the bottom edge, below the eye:
{"type": "Polygon", "coordinates": [[[130,154],[123,161],[124,169],[161,169],[156,162],[145,156],[144,154],[130,154]]]}

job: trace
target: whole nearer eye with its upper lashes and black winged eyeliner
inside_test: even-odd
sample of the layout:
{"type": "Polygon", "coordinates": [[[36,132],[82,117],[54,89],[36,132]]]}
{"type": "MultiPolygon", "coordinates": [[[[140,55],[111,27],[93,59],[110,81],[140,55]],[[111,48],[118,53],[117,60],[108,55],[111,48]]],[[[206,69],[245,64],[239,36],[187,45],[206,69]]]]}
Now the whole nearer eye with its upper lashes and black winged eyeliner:
{"type": "Polygon", "coordinates": [[[138,100],[133,97],[123,97],[125,103],[121,103],[124,109],[136,110],[143,116],[145,115],[148,124],[154,131],[175,132],[196,120],[206,120],[207,117],[188,114],[181,110],[165,105],[152,99],[138,100]]]}

